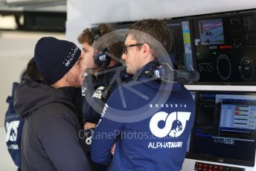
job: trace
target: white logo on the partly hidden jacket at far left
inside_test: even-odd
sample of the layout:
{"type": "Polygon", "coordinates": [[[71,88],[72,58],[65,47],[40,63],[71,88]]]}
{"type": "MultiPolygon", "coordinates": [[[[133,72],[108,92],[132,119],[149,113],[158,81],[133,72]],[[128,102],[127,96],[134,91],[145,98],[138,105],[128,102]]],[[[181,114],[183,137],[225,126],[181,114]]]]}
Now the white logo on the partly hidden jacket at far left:
{"type": "Polygon", "coordinates": [[[12,121],[10,123],[6,123],[5,128],[6,132],[6,142],[8,141],[16,141],[18,134],[18,126],[19,120],[12,121]]]}

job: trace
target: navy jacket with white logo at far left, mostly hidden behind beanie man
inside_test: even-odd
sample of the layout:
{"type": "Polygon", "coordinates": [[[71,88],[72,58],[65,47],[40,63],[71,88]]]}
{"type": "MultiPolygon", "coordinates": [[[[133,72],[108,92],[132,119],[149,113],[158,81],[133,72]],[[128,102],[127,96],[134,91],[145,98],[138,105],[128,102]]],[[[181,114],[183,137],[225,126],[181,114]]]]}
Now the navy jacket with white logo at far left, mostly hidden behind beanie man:
{"type": "Polygon", "coordinates": [[[7,97],[6,100],[6,102],[9,103],[9,106],[5,114],[4,126],[6,130],[7,149],[16,166],[21,168],[22,129],[25,120],[13,109],[14,91],[16,90],[17,86],[19,86],[19,83],[13,83],[12,95],[7,97]]]}

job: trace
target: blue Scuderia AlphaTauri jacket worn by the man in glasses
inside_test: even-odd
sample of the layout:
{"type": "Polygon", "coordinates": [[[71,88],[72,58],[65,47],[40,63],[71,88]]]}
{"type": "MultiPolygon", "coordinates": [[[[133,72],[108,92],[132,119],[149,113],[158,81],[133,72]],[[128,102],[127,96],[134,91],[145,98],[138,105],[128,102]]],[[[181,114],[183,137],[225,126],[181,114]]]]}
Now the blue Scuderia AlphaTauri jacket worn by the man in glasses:
{"type": "MultiPolygon", "coordinates": [[[[148,71],[153,62],[138,73],[148,71]]],[[[178,83],[138,77],[115,90],[92,139],[92,160],[111,170],[181,170],[194,120],[193,98],[178,83]]]]}

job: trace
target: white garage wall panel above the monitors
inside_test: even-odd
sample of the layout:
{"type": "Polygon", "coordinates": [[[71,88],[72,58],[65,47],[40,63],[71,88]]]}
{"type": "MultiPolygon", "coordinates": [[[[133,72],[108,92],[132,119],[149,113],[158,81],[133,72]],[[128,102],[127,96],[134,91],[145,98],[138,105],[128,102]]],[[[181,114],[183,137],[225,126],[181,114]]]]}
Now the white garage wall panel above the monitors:
{"type": "Polygon", "coordinates": [[[256,8],[255,0],[68,0],[66,38],[100,22],[171,18],[256,8]]]}

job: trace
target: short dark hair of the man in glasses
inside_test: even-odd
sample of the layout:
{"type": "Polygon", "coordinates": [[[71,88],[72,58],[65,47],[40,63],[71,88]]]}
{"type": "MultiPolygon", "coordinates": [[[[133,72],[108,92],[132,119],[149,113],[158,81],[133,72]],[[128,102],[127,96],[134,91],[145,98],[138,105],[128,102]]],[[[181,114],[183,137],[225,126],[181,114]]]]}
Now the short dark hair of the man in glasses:
{"type": "Polygon", "coordinates": [[[150,45],[155,55],[157,46],[153,45],[154,42],[150,39],[150,36],[152,36],[154,39],[158,40],[167,53],[170,54],[173,37],[164,21],[159,19],[144,19],[135,22],[128,29],[127,36],[128,34],[130,34],[137,43],[147,43],[150,45]]]}

